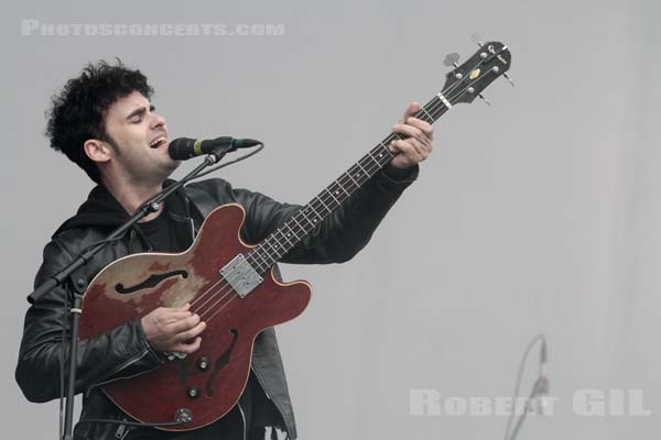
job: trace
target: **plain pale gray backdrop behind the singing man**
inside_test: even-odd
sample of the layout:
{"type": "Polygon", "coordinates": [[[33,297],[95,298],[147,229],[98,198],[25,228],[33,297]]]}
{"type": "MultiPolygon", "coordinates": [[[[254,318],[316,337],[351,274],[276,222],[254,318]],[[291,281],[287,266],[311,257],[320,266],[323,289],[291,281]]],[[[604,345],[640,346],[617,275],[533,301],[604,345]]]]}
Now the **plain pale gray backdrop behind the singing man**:
{"type": "Polygon", "coordinates": [[[4,7],[2,437],[56,438],[56,404],[29,404],[13,369],[42,248],[91,187],[42,134],[51,95],[85,63],[141,68],[174,136],[263,140],[221,176],[305,202],[410,100],[437,92],[445,54],[465,59],[478,31],[510,46],[517,87],[498,81],[494,107],[457,106],[436,124],[420,180],[353,262],[284,267],[315,287],[278,329],[301,438],[502,438],[502,417],[411,416],[409,393],[509,396],[538,332],[560,402],[522,438],[659,438],[660,12],[604,0],[4,7]],[[21,19],[283,23],[285,35],[21,36],[21,19]],[[579,417],[579,388],[641,388],[652,414],[579,417]]]}

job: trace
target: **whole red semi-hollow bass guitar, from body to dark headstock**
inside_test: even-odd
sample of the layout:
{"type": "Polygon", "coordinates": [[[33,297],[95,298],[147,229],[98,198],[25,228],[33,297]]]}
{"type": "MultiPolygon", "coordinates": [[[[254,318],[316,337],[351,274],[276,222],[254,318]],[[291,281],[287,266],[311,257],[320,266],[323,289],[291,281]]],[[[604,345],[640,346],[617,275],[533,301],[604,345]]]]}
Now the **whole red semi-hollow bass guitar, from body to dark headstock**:
{"type": "MultiPolygon", "coordinates": [[[[501,43],[481,45],[415,117],[433,123],[455,103],[472,102],[510,62],[501,43]]],[[[110,399],[140,421],[185,421],[161,428],[173,431],[225,416],[246,386],[257,334],[295,318],[310,301],[306,282],[279,283],[272,266],[392,160],[387,145],[398,138],[389,134],[257,246],[241,242],[246,215],[231,204],[209,213],[186,252],[128,255],[99,272],[83,300],[80,340],[186,302],[207,324],[195,353],[166,353],[155,370],[104,384],[110,399]]]]}

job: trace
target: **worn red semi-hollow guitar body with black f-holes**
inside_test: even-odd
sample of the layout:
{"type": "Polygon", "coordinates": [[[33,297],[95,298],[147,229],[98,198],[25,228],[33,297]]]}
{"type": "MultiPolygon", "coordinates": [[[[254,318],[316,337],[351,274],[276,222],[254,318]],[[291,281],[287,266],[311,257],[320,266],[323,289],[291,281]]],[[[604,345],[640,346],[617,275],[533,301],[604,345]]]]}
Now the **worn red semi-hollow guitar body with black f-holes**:
{"type": "Polygon", "coordinates": [[[245,298],[224,280],[220,268],[251,250],[239,238],[243,219],[239,205],[221,206],[209,213],[186,252],[122,257],[89,285],[83,300],[80,340],[140,319],[159,307],[186,302],[206,322],[202,346],[195,353],[104,385],[110,399],[131,417],[167,422],[175,420],[177,410],[192,413],[191,422],[167,430],[196,429],[221,418],[246,387],[257,334],[295,318],[307,306],[310,285],[279,283],[272,270],[245,298]]]}

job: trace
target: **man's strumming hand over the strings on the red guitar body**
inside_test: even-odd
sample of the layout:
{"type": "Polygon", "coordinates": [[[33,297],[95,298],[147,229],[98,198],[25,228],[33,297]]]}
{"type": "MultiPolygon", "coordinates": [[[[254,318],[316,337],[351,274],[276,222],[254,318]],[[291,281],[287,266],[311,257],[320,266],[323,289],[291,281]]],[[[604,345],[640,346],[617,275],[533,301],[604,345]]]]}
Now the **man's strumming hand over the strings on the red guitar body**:
{"type": "Polygon", "coordinates": [[[206,323],[198,315],[193,315],[189,308],[188,304],[183,307],[159,307],[142,317],[142,329],[152,349],[158,352],[186,354],[199,349],[199,334],[206,328],[206,323]]]}

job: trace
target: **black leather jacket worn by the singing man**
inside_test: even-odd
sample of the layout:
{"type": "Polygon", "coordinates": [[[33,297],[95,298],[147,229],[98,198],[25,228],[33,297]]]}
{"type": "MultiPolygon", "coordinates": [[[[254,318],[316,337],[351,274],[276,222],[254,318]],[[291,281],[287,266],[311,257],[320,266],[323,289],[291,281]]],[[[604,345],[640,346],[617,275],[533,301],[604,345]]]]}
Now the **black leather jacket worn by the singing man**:
{"type": "MultiPolygon", "coordinates": [[[[398,170],[394,170],[398,172],[398,170]]],[[[351,258],[369,241],[373,230],[418,175],[418,167],[408,174],[381,170],[333,216],[288,255],[283,263],[339,263],[351,258]],[[393,178],[394,177],[394,178],[393,178]]],[[[166,183],[166,185],[170,183],[166,183]]],[[[240,204],[247,213],[241,230],[247,243],[259,243],[281,226],[300,207],[280,204],[246,189],[234,189],[223,179],[189,184],[171,197],[169,216],[186,224],[192,242],[204,216],[213,208],[228,202],[240,204]]],[[[36,275],[35,286],[68,264],[74,255],[128,219],[119,202],[104,188],[96,187],[75,217],[67,220],[44,249],[44,261],[36,275]]],[[[95,258],[75,272],[67,288],[55,288],[32,302],[25,315],[23,339],[15,371],[17,382],[30,402],[48,402],[59,397],[59,355],[63,346],[62,323],[68,319],[65,300],[71,305],[73,290],[83,294],[86,284],[107,264],[130,253],[150,251],[140,229],[131,229],[119,241],[107,245],[95,258]]],[[[64,336],[64,359],[68,359],[69,337],[64,336]]],[[[99,385],[124,376],[152,370],[162,358],[147,342],[140,320],[124,324],[100,337],[78,343],[76,392],[85,393],[80,419],[127,419],[102,393],[99,385]]],[[[268,399],[275,406],[283,428],[296,438],[294,415],[289,397],[284,370],[273,329],[260,333],[254,343],[252,371],[268,399]]],[[[121,432],[126,427],[121,428],[121,432]]],[[[80,424],[76,439],[115,439],[117,425],[80,424]]],[[[126,432],[124,432],[126,433],[126,432]]],[[[123,437],[121,437],[123,438],[123,437]]],[[[130,439],[131,435],[126,439],[130,439]]]]}

